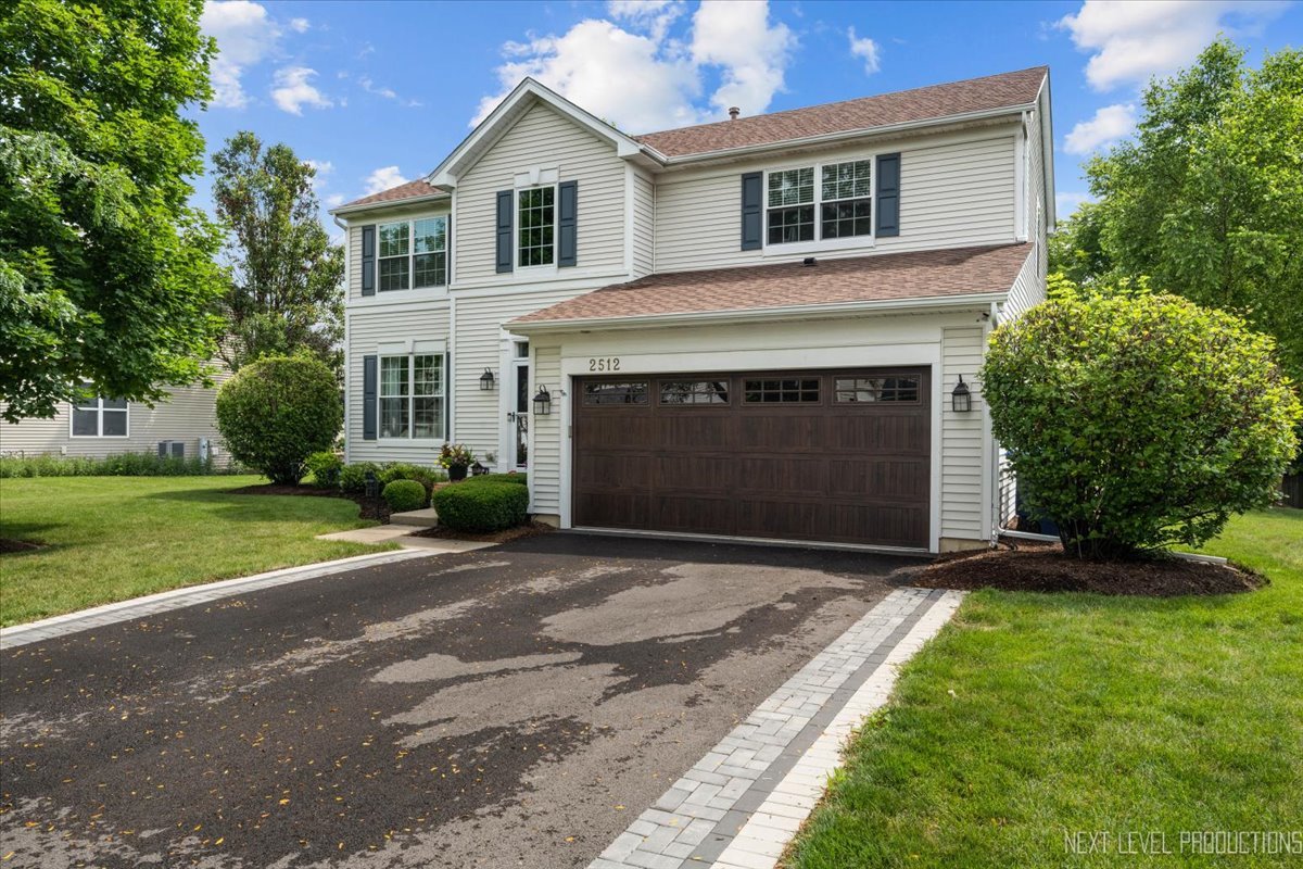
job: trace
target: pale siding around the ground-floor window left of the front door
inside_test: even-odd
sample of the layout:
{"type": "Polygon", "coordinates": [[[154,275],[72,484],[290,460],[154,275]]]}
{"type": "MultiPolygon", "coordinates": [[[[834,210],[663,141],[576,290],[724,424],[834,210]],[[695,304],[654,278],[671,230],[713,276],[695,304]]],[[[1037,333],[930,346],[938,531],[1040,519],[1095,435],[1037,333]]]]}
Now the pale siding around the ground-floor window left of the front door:
{"type": "Polygon", "coordinates": [[[410,461],[431,466],[437,464],[438,446],[362,439],[362,357],[374,354],[380,344],[447,340],[447,300],[349,310],[348,420],[344,433],[349,461],[410,461]]]}

